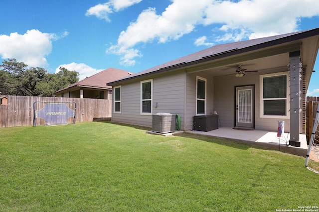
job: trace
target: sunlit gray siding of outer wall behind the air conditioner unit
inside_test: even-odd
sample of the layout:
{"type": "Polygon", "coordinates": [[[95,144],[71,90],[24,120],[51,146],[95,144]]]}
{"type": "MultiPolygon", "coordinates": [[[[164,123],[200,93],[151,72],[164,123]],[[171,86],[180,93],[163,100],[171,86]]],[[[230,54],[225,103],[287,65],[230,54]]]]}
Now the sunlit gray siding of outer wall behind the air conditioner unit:
{"type": "MultiPolygon", "coordinates": [[[[149,79],[153,79],[153,114],[157,112],[179,114],[181,125],[183,125],[185,93],[184,71],[149,79]]],[[[123,84],[121,92],[122,112],[113,112],[112,120],[115,122],[152,127],[152,115],[140,114],[141,81],[123,84]]]]}

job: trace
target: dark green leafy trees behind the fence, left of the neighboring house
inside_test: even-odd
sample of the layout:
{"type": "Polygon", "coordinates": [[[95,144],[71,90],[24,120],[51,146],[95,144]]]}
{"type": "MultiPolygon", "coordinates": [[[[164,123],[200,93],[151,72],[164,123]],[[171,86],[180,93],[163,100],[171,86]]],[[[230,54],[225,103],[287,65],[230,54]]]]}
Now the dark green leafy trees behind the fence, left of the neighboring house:
{"type": "Polygon", "coordinates": [[[40,67],[28,67],[16,59],[0,65],[0,92],[14,96],[53,96],[53,93],[78,82],[79,73],[60,67],[57,74],[40,67]]]}

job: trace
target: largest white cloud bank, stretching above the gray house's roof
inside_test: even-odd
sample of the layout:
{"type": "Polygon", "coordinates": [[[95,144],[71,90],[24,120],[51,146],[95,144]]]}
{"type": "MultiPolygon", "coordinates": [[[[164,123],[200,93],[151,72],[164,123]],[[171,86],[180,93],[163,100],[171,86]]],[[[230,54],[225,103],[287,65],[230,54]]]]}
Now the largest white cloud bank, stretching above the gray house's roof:
{"type": "MultiPolygon", "coordinates": [[[[115,2],[109,1],[109,2],[115,2]]],[[[119,0],[120,2],[120,0],[119,0]]],[[[165,43],[194,31],[197,25],[221,25],[213,42],[253,39],[298,30],[301,17],[319,15],[318,0],[171,0],[161,14],[155,8],[142,11],[107,52],[121,55],[122,63],[134,65],[131,52],[141,56],[138,44],[165,43]],[[130,54],[131,56],[127,56],[130,54]],[[126,58],[126,60],[125,60],[126,58]]],[[[212,27],[216,27],[212,26],[212,27]]],[[[206,45],[197,40],[195,45],[206,45]]]]}

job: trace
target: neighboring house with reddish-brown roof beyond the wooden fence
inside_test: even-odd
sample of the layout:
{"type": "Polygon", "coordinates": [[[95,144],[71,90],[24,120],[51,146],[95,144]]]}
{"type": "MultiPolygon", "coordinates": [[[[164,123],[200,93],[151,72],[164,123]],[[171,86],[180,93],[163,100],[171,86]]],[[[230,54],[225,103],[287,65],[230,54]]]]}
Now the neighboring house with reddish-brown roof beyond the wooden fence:
{"type": "Polygon", "coordinates": [[[128,71],[108,68],[55,92],[56,97],[111,100],[112,87],[107,83],[129,76],[128,71]]]}

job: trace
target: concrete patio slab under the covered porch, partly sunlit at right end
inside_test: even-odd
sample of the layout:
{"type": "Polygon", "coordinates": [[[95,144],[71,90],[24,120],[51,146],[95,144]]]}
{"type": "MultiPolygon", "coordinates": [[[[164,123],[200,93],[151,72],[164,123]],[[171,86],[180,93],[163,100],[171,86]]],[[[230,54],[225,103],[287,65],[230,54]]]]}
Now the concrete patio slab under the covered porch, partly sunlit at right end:
{"type": "Polygon", "coordinates": [[[300,134],[299,136],[301,147],[293,147],[289,146],[290,133],[283,133],[282,137],[277,137],[277,132],[256,129],[238,130],[231,127],[220,127],[208,132],[195,130],[187,130],[186,132],[264,146],[302,157],[306,157],[308,150],[307,138],[305,134],[300,134]]]}

